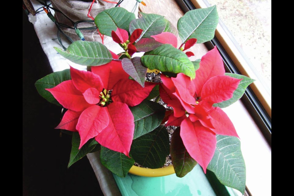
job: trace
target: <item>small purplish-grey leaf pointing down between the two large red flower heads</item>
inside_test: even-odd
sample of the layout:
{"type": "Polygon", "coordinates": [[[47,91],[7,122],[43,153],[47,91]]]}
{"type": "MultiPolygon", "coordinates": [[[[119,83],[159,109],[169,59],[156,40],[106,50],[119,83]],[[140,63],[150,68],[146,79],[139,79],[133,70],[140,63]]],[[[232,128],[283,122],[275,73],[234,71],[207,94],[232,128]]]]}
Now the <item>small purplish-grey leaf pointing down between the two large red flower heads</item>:
{"type": "Polygon", "coordinates": [[[123,58],[122,66],[123,70],[144,88],[147,68],[142,65],[141,57],[123,58]]]}

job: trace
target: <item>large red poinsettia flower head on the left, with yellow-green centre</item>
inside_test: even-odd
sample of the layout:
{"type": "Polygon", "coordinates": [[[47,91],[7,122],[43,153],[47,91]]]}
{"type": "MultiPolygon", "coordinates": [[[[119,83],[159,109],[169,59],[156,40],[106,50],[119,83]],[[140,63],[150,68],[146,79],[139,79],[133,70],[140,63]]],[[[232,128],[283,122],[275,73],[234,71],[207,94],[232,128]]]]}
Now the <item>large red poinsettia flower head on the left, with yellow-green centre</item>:
{"type": "MultiPolygon", "coordinates": [[[[117,58],[113,53],[112,56],[117,58]]],[[[134,116],[129,106],[140,104],[155,84],[142,88],[129,80],[121,61],[91,69],[86,72],[70,67],[71,80],[46,89],[68,109],[56,128],[78,131],[79,148],[95,137],[104,147],[129,156],[134,135],[134,116]]]]}

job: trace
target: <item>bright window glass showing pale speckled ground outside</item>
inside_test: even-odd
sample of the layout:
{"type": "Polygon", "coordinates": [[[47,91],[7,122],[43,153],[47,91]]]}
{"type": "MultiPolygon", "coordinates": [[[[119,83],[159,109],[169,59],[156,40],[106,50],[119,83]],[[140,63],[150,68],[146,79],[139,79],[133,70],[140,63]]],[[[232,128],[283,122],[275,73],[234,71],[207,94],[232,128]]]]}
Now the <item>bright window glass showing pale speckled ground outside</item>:
{"type": "Polygon", "coordinates": [[[271,96],[271,0],[207,0],[271,96]]]}

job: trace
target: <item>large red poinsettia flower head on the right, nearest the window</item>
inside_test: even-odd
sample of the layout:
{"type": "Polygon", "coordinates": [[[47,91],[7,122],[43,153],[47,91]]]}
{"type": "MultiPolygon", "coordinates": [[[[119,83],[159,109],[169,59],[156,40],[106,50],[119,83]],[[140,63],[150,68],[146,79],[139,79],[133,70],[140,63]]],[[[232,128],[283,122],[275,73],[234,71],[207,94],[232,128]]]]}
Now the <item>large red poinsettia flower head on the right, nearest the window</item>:
{"type": "Polygon", "coordinates": [[[182,73],[161,79],[160,96],[174,108],[166,126],[181,126],[187,151],[206,172],[216,148],[216,134],[238,137],[228,116],[213,104],[232,98],[241,80],[224,75],[216,47],[202,57],[195,79],[182,73]]]}

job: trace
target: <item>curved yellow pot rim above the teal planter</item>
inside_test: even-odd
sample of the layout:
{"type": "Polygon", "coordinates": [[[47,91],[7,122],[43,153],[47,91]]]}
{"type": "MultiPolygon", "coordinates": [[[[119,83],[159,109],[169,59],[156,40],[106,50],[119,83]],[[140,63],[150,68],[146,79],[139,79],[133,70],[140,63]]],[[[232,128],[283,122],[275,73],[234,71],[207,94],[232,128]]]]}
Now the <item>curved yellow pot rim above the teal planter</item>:
{"type": "Polygon", "coordinates": [[[149,169],[140,168],[133,165],[129,171],[130,174],[145,176],[145,177],[160,177],[165,175],[171,175],[175,173],[174,167],[172,165],[164,168],[149,169]]]}

